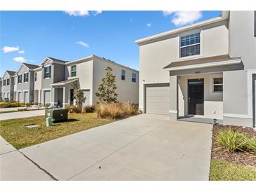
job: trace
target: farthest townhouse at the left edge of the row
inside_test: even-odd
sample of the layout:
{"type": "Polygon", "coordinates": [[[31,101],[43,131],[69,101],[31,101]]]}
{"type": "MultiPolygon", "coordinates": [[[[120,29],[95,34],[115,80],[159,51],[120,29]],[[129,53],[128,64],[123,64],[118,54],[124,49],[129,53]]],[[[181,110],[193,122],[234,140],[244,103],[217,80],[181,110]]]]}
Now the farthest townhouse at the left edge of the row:
{"type": "Polygon", "coordinates": [[[13,100],[15,71],[6,70],[2,78],[1,94],[3,100],[13,100]]]}

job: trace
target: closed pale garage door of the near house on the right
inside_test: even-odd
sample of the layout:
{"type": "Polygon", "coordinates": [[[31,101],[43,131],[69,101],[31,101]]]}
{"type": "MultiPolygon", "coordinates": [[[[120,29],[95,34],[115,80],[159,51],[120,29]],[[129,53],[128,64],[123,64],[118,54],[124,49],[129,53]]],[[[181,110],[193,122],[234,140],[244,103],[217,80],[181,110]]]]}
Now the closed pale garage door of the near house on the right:
{"type": "Polygon", "coordinates": [[[146,113],[169,114],[170,88],[169,83],[146,85],[146,113]]]}

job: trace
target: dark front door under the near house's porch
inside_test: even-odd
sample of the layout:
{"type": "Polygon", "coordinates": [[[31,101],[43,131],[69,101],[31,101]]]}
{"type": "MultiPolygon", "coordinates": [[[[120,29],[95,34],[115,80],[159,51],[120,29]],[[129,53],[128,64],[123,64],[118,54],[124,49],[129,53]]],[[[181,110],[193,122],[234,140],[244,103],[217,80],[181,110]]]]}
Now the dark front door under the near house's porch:
{"type": "Polygon", "coordinates": [[[190,115],[203,115],[203,78],[189,79],[188,104],[190,115]]]}

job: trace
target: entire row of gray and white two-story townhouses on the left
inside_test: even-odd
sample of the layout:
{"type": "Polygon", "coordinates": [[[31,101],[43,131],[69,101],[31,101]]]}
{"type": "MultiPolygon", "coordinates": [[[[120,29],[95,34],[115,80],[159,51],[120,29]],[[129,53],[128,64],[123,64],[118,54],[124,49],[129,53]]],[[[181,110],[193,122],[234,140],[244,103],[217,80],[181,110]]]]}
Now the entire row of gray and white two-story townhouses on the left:
{"type": "Polygon", "coordinates": [[[72,85],[77,82],[86,97],[84,105],[93,105],[107,67],[116,76],[117,100],[137,104],[139,71],[95,55],[71,62],[46,57],[40,66],[22,63],[17,72],[6,71],[1,92],[18,102],[66,108],[75,104],[72,85]]]}

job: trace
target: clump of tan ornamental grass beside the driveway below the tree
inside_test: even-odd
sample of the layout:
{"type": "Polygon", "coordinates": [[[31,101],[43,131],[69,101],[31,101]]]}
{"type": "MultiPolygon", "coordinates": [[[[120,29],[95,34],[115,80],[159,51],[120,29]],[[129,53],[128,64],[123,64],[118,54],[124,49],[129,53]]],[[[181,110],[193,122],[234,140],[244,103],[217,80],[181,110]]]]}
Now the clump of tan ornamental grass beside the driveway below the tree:
{"type": "Polygon", "coordinates": [[[126,118],[127,116],[138,114],[137,105],[128,102],[97,104],[95,111],[98,118],[111,119],[126,118]]]}

